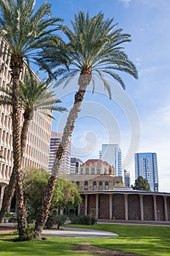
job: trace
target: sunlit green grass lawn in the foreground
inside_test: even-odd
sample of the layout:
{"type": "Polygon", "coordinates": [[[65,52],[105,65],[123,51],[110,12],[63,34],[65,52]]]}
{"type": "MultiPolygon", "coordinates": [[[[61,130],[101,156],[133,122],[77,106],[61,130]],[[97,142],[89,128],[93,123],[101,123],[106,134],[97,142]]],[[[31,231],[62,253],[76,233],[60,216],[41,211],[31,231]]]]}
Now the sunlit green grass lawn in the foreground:
{"type": "MultiPolygon", "coordinates": [[[[46,241],[12,242],[0,240],[0,256],[77,255],[72,252],[77,244],[90,242],[106,249],[134,252],[140,255],[170,255],[170,227],[99,224],[84,227],[117,233],[117,238],[47,238],[46,241]]],[[[3,235],[0,236],[2,238],[3,235]]],[[[13,238],[14,235],[7,236],[13,238]]],[[[88,256],[83,254],[83,256],[88,256]]]]}

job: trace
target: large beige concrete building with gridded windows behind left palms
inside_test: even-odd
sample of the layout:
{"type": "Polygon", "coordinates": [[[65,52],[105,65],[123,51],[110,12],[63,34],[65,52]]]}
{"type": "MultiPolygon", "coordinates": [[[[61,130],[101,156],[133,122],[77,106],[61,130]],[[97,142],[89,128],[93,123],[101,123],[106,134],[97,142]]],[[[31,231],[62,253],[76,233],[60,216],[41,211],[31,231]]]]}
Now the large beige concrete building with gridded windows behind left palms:
{"type": "MultiPolygon", "coordinates": [[[[0,37],[0,49],[7,48],[7,42],[0,37]]],[[[0,72],[0,86],[4,89],[10,83],[11,72],[7,56],[0,56],[0,64],[4,64],[0,72]]],[[[20,74],[20,80],[26,72],[26,65],[23,66],[23,72],[20,74]]],[[[36,77],[36,76],[35,76],[36,77]]],[[[38,80],[38,78],[37,78],[38,80]]],[[[1,95],[2,93],[0,93],[1,95]]],[[[4,195],[4,187],[9,183],[12,173],[12,107],[10,105],[0,105],[0,150],[3,159],[0,161],[0,208],[1,200],[4,195]]],[[[21,118],[20,126],[23,124],[21,118]]],[[[48,168],[48,157],[50,148],[51,118],[41,113],[34,113],[28,129],[28,138],[26,150],[23,153],[22,167],[48,168]]]]}

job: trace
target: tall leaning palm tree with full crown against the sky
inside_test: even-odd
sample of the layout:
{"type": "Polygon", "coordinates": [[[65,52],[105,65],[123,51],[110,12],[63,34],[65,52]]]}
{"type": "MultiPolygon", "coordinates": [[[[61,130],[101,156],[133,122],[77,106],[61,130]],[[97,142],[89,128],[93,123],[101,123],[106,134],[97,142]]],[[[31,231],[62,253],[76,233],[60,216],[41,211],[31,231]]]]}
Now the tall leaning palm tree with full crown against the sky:
{"type": "Polygon", "coordinates": [[[39,58],[40,63],[46,61],[50,68],[54,69],[55,75],[60,78],[56,83],[57,86],[63,82],[66,85],[74,75],[80,74],[80,77],[78,79],[79,89],[75,94],[74,105],[69,112],[66,126],[63,130],[61,144],[58,147],[53,163],[52,175],[48,181],[42,201],[42,208],[39,211],[39,217],[36,219],[36,236],[40,236],[47,220],[61,159],[68,146],[69,136],[72,135],[74,122],[77,119],[90,81],[92,81],[93,89],[95,89],[93,75],[97,74],[101,78],[109,92],[109,97],[111,97],[110,86],[104,78],[104,73],[117,80],[123,89],[125,89],[125,85],[116,71],[126,72],[137,78],[136,67],[120,46],[123,42],[131,41],[130,35],[123,34],[122,29],[115,29],[117,24],[112,24],[112,21],[113,19],[109,18],[104,20],[104,15],[101,12],[93,18],[89,18],[88,13],[85,15],[84,12],[79,12],[78,15],[75,15],[75,20],[71,20],[72,30],[67,26],[63,26],[68,42],[61,44],[59,47],[54,44],[53,48],[44,49],[42,56],[39,58]],[[58,67],[59,61],[63,62],[61,67],[58,67]]]}

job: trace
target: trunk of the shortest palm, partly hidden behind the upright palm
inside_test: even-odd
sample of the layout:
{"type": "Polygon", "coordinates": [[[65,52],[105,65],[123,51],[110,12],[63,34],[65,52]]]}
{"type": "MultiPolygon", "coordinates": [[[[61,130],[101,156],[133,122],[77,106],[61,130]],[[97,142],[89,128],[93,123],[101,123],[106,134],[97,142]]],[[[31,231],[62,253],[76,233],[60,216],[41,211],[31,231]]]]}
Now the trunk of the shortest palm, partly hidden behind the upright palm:
{"type": "MultiPolygon", "coordinates": [[[[23,158],[23,151],[26,148],[26,140],[27,140],[27,136],[28,136],[29,123],[30,123],[30,118],[24,118],[23,128],[22,128],[22,132],[21,132],[21,136],[20,136],[20,159],[23,158]]],[[[9,206],[9,203],[12,200],[14,192],[15,192],[15,171],[14,171],[14,167],[12,167],[12,174],[10,176],[9,184],[8,184],[7,189],[5,191],[4,200],[3,200],[3,203],[2,203],[2,206],[1,206],[0,223],[1,223],[1,220],[4,216],[4,214],[7,212],[7,208],[9,206]]]]}

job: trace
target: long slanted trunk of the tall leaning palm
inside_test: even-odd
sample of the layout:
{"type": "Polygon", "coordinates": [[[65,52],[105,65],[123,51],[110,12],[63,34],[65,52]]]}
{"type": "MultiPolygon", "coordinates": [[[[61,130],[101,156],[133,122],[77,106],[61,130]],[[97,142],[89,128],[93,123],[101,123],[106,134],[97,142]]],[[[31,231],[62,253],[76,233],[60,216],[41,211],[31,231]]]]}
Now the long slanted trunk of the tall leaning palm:
{"type": "Polygon", "coordinates": [[[35,236],[41,236],[42,229],[45,226],[45,222],[47,221],[48,214],[50,212],[50,204],[53,199],[53,192],[55,189],[55,183],[58,178],[59,167],[61,165],[61,160],[66,153],[66,148],[69,145],[69,138],[72,136],[72,132],[74,129],[74,123],[77,119],[78,113],[80,112],[80,106],[82,104],[82,100],[84,99],[85,91],[87,89],[88,84],[91,80],[91,71],[84,70],[82,71],[78,84],[79,90],[75,94],[74,97],[74,105],[69,112],[69,116],[66,121],[66,126],[63,129],[63,136],[61,139],[61,143],[58,147],[58,150],[55,155],[55,160],[53,163],[52,174],[48,181],[45,196],[42,200],[42,207],[39,210],[39,214],[36,217],[36,224],[35,224],[35,236]]]}

